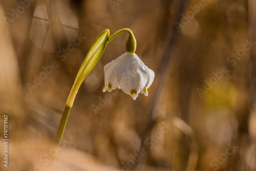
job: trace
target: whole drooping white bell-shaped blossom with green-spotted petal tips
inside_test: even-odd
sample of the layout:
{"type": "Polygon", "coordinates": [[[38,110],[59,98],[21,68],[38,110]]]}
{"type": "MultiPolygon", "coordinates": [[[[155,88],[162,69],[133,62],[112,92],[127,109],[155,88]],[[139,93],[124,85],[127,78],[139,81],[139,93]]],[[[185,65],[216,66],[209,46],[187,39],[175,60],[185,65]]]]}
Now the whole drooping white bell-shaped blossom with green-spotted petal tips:
{"type": "Polygon", "coordinates": [[[147,96],[155,73],[147,68],[135,53],[124,53],[104,67],[105,86],[103,92],[116,88],[135,100],[139,93],[147,96]]]}

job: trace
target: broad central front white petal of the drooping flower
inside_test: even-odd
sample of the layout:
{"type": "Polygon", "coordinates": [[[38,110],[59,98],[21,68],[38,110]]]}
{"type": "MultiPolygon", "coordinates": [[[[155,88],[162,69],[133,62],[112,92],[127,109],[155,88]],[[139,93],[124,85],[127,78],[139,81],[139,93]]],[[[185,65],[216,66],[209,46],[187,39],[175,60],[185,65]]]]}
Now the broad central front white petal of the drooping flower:
{"type": "Polygon", "coordinates": [[[148,72],[139,57],[135,53],[125,53],[117,67],[117,81],[122,91],[134,96],[130,91],[135,89],[138,95],[146,86],[147,79],[148,72]]]}

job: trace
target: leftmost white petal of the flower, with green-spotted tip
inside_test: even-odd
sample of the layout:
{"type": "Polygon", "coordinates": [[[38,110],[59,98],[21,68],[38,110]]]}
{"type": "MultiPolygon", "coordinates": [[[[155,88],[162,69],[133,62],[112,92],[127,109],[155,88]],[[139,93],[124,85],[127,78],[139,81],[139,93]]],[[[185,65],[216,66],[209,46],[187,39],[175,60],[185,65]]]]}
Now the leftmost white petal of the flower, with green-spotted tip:
{"type": "Polygon", "coordinates": [[[103,92],[108,90],[111,92],[118,87],[117,79],[116,79],[116,68],[121,60],[123,55],[119,56],[117,59],[113,60],[112,62],[108,63],[104,67],[104,88],[103,92]]]}

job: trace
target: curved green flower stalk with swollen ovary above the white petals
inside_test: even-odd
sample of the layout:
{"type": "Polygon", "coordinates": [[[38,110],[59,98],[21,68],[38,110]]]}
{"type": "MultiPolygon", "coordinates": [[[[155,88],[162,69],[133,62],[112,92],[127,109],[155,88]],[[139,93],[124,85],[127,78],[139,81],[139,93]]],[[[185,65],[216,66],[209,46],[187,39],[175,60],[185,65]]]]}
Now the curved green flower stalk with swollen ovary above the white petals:
{"type": "Polygon", "coordinates": [[[135,53],[136,51],[136,39],[133,35],[133,32],[132,30],[130,29],[127,29],[127,28],[124,28],[124,29],[121,29],[121,30],[118,30],[117,32],[115,32],[114,34],[112,34],[110,37],[109,37],[109,41],[108,43],[113,39],[115,38],[116,36],[118,36],[119,34],[123,33],[123,32],[127,32],[129,33],[129,37],[126,41],[126,52],[128,53],[135,53]]]}

